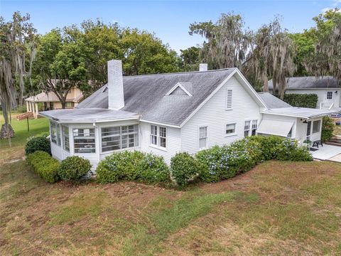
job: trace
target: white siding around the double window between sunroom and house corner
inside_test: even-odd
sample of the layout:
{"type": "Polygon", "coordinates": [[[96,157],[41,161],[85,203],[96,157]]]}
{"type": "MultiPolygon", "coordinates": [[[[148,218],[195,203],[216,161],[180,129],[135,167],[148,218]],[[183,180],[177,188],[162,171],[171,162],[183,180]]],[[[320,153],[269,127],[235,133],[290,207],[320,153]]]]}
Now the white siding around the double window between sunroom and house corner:
{"type": "Polygon", "coordinates": [[[144,151],[146,153],[153,153],[158,156],[163,156],[163,159],[165,159],[166,163],[170,164],[172,156],[180,151],[180,128],[167,127],[165,125],[161,126],[167,128],[166,149],[157,148],[156,146],[150,144],[151,124],[148,122],[141,122],[141,151],[144,151]]]}

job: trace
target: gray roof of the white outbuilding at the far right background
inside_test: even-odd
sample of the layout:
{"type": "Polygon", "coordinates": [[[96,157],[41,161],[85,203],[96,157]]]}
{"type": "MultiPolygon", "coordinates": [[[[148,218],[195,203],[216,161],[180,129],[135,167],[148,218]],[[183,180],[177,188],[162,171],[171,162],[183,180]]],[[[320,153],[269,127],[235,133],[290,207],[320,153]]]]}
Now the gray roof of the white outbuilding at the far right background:
{"type": "MultiPolygon", "coordinates": [[[[316,78],[315,76],[287,78],[288,89],[315,89],[315,88],[341,88],[340,81],[337,82],[332,76],[316,78]]],[[[272,80],[269,80],[269,90],[273,90],[272,80]]]]}

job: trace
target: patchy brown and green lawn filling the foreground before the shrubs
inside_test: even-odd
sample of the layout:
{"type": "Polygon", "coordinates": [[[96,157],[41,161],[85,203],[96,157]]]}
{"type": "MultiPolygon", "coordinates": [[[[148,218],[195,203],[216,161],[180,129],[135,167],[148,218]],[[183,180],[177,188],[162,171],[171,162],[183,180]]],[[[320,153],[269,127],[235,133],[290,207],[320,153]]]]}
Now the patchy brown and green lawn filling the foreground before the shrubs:
{"type": "Polygon", "coordinates": [[[269,161],[187,191],[0,167],[2,255],[340,255],[341,165],[269,161]]]}

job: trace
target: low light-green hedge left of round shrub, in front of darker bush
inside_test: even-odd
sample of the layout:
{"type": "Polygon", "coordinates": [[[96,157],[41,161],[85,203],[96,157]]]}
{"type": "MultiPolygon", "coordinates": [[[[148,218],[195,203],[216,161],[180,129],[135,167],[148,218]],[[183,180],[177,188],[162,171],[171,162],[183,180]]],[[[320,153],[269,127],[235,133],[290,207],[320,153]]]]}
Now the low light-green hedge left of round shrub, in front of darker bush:
{"type": "Polygon", "coordinates": [[[50,154],[45,151],[35,151],[27,156],[28,164],[43,180],[53,183],[58,181],[58,167],[60,163],[57,159],[53,159],[50,154]]]}

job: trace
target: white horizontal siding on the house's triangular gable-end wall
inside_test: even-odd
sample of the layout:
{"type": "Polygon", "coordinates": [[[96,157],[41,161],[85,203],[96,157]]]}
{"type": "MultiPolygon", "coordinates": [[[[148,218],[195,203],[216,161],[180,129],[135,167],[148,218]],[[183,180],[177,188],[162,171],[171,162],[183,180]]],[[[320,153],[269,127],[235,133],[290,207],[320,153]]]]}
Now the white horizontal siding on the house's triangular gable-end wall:
{"type": "Polygon", "coordinates": [[[261,120],[259,105],[239,81],[230,78],[181,129],[181,151],[199,150],[199,127],[208,127],[208,147],[229,144],[244,137],[244,122],[261,120]],[[227,90],[232,90],[232,109],[226,109],[227,90]],[[226,124],[236,124],[236,134],[225,134],[226,124]]]}

